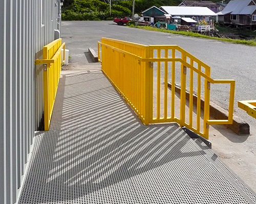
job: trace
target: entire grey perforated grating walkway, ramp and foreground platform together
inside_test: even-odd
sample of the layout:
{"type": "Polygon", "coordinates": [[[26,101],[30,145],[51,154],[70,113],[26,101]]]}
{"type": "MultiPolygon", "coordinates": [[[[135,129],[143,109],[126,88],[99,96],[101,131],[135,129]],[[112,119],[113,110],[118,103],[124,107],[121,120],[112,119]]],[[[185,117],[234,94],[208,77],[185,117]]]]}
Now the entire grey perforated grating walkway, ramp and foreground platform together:
{"type": "Polygon", "coordinates": [[[60,80],[19,203],[256,203],[199,139],[143,125],[101,72],[60,80]]]}

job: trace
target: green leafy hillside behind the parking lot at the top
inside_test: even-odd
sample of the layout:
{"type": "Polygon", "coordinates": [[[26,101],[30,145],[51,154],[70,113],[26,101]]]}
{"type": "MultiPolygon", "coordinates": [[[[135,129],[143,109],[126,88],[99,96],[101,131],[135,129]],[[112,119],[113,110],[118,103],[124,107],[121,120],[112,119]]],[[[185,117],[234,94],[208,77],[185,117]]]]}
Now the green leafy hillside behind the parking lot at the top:
{"type": "MultiPolygon", "coordinates": [[[[135,13],[152,7],[177,6],[182,0],[136,0],[135,13]]],[[[113,1],[110,5],[100,0],[66,0],[62,7],[62,20],[110,20],[113,17],[131,16],[133,1],[113,1]]]]}

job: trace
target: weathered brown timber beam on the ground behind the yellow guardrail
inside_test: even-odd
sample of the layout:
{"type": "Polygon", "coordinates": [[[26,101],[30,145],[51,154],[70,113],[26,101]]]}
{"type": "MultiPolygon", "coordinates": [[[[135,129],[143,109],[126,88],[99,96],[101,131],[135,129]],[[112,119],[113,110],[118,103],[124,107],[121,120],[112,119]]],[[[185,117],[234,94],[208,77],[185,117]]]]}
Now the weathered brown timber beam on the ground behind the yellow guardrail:
{"type": "MultiPolygon", "coordinates": [[[[172,88],[172,84],[168,83],[168,87],[172,88]]],[[[180,93],[180,86],[175,84],[175,92],[180,93]]],[[[189,92],[186,91],[186,98],[189,99],[189,92]]],[[[197,103],[197,95],[193,94],[193,103],[197,103]]],[[[204,99],[201,98],[201,109],[204,108],[204,99]]],[[[216,104],[210,103],[210,116],[220,119],[227,120],[228,119],[228,111],[217,106],[216,104]]],[[[242,120],[237,116],[233,116],[233,123],[227,124],[227,127],[232,130],[234,133],[238,135],[249,135],[250,134],[250,126],[247,122],[242,120]]]]}

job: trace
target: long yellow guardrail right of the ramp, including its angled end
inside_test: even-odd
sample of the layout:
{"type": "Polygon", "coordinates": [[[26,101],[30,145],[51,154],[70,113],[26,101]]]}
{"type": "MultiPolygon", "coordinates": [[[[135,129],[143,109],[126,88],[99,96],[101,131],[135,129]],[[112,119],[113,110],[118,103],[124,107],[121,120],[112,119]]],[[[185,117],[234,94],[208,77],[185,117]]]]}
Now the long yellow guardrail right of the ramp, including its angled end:
{"type": "Polygon", "coordinates": [[[177,122],[208,139],[209,124],[232,123],[234,80],[211,79],[210,67],[181,47],[146,46],[102,38],[98,42],[98,56],[102,71],[145,124],[177,122]],[[177,81],[181,84],[179,104],[175,96],[177,81]],[[171,90],[168,83],[172,84],[171,90]],[[209,119],[210,84],[230,85],[228,120],[209,119]],[[195,91],[196,103],[193,101],[195,91]],[[204,95],[203,121],[201,95],[204,95]]]}

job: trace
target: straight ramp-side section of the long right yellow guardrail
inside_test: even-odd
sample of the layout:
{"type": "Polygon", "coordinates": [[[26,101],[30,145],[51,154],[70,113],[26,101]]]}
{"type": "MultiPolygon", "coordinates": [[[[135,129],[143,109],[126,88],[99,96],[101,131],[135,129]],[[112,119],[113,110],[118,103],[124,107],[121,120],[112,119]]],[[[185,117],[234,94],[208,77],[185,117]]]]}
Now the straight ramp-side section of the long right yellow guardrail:
{"type": "Polygon", "coordinates": [[[98,56],[102,62],[102,71],[124,96],[127,103],[133,107],[141,120],[148,124],[146,121],[148,120],[146,115],[148,114],[148,107],[144,103],[146,95],[143,94],[144,89],[148,87],[145,84],[148,83],[148,80],[145,79],[145,69],[141,69],[145,62],[139,63],[137,60],[140,57],[146,57],[147,46],[124,41],[112,41],[107,38],[102,38],[101,46],[103,47],[101,58],[100,55],[98,56]],[[105,49],[110,52],[105,52],[105,49]],[[122,69],[118,69],[118,67],[122,67],[122,69]]]}

